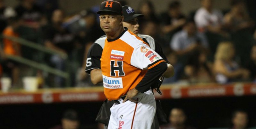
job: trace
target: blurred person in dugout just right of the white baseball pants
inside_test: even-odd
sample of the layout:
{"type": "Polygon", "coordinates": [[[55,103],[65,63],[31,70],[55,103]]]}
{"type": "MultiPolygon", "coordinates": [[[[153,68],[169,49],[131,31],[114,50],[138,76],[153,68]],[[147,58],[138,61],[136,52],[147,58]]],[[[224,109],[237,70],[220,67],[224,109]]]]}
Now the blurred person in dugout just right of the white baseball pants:
{"type": "Polygon", "coordinates": [[[173,108],[169,117],[170,124],[161,126],[161,129],[193,129],[185,124],[186,119],[186,114],[182,109],[173,108]]]}

